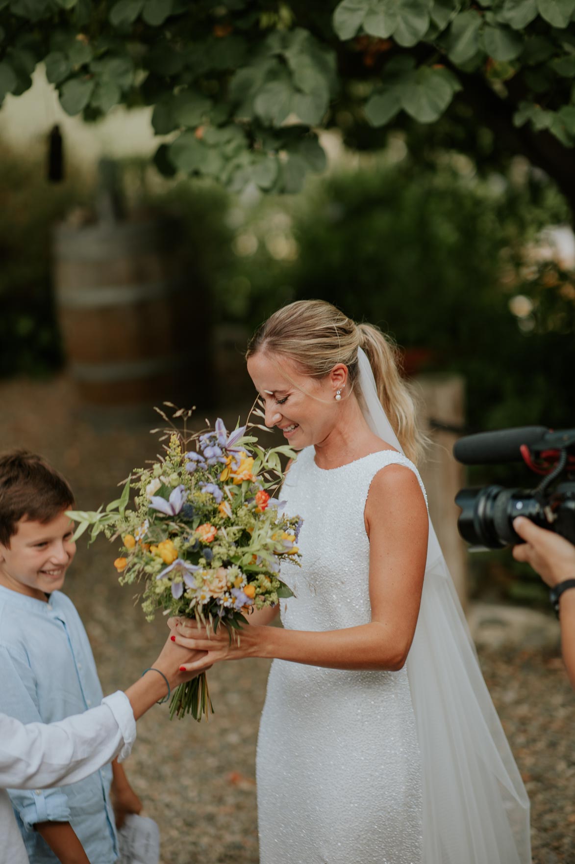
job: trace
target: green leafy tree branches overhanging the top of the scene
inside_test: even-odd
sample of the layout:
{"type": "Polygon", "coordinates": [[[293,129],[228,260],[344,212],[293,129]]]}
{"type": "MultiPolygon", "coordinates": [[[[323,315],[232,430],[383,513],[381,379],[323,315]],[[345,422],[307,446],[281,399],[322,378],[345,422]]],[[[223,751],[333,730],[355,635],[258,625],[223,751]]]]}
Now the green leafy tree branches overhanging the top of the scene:
{"type": "Polygon", "coordinates": [[[294,193],[324,168],[319,127],[437,124],[478,98],[515,147],[571,149],[573,21],[575,0],[5,0],[0,104],[43,61],[69,114],[153,106],[164,174],[294,193]]]}

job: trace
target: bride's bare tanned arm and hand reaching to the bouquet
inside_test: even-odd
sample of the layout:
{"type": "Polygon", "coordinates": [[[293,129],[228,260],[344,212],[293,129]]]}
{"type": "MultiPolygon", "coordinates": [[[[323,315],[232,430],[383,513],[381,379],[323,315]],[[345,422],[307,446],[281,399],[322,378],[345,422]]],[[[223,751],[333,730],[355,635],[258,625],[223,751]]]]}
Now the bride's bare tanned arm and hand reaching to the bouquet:
{"type": "MultiPolygon", "coordinates": [[[[230,645],[227,632],[206,638],[205,631],[174,621],[179,645],[207,651],[204,659],[186,664],[186,669],[247,657],[332,669],[401,669],[414,638],[427,558],[427,508],[409,468],[390,465],[376,474],[365,522],[370,537],[369,624],[326,632],[254,625],[241,632],[239,645],[230,645]]],[[[353,566],[352,560],[345,563],[353,566]]]]}

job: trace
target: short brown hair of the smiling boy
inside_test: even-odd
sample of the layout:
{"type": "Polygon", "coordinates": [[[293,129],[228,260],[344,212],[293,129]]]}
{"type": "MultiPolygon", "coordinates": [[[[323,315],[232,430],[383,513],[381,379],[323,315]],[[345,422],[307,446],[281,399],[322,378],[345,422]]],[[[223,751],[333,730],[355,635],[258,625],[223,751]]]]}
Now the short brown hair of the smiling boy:
{"type": "Polygon", "coordinates": [[[0,455],[0,543],[9,546],[17,524],[26,517],[45,524],[72,507],[67,480],[45,459],[28,450],[0,455]]]}

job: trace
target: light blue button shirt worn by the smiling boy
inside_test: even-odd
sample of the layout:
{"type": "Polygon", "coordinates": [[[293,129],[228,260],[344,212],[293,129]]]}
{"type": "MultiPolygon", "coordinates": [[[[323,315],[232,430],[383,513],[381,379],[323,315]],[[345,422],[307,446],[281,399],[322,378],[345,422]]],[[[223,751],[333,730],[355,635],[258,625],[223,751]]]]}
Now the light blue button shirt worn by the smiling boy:
{"type": "MultiPolygon", "coordinates": [[[[94,708],[102,688],[72,600],[54,591],[47,603],[0,586],[0,713],[23,723],[51,723],[94,708]]],[[[32,826],[69,822],[91,864],[117,861],[110,802],[111,766],[66,788],[9,790],[32,864],[58,864],[32,826]]]]}

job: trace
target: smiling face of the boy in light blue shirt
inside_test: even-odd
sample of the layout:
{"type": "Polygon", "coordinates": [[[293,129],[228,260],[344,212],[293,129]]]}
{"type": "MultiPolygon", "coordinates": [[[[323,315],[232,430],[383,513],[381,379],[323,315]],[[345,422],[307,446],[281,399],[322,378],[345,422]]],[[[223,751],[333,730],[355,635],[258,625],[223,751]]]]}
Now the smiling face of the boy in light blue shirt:
{"type": "Polygon", "coordinates": [[[62,511],[42,524],[22,518],[9,545],[0,543],[0,585],[36,600],[64,585],[66,570],[76,554],[73,522],[62,511]]]}

